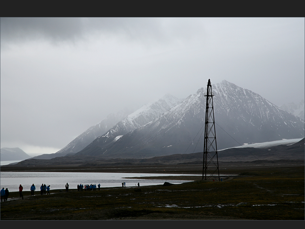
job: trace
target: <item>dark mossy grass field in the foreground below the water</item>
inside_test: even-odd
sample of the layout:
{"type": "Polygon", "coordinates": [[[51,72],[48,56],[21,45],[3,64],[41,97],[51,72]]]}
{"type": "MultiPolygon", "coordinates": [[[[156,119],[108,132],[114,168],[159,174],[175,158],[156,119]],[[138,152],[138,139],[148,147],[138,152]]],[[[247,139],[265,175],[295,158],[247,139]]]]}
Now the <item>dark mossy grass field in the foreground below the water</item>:
{"type": "Polygon", "coordinates": [[[1,220],[304,220],[304,166],[226,172],[239,176],[45,196],[23,192],[23,200],[10,192],[1,220]]]}

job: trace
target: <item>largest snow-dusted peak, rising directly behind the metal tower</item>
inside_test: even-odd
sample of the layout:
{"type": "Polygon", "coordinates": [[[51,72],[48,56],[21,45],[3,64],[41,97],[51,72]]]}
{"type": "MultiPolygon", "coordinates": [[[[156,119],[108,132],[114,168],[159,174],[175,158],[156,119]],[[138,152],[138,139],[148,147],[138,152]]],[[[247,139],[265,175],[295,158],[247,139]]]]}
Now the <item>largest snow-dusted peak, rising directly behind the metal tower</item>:
{"type": "MultiPolygon", "coordinates": [[[[212,91],[215,94],[213,105],[219,150],[244,143],[304,137],[305,124],[301,118],[275,106],[259,94],[225,80],[212,85],[212,91]]],[[[206,88],[200,88],[152,122],[127,134],[116,132],[116,136],[122,136],[112,136],[109,139],[112,143],[105,144],[112,134],[110,130],[76,155],[153,157],[200,152],[203,137],[198,138],[204,131],[205,92],[206,88]]],[[[124,122],[121,125],[124,127],[124,122]]]]}

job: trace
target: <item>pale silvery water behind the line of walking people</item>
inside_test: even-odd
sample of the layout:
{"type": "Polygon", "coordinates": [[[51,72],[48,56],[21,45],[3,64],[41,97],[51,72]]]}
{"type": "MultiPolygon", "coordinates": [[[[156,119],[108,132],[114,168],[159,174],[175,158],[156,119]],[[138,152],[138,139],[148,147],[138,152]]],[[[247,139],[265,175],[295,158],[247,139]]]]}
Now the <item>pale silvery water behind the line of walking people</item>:
{"type": "Polygon", "coordinates": [[[135,187],[147,185],[163,185],[165,181],[172,184],[181,184],[189,181],[172,180],[148,180],[129,179],[124,177],[149,177],[149,176],[181,176],[181,174],[149,174],[149,173],[81,173],[81,172],[0,172],[0,187],[8,188],[10,192],[19,191],[19,185],[23,186],[23,191],[30,191],[30,186],[34,183],[36,191],[40,191],[41,184],[50,185],[52,189],[65,190],[66,183],[69,188],[77,188],[77,185],[98,184],[101,187],[135,187]]]}

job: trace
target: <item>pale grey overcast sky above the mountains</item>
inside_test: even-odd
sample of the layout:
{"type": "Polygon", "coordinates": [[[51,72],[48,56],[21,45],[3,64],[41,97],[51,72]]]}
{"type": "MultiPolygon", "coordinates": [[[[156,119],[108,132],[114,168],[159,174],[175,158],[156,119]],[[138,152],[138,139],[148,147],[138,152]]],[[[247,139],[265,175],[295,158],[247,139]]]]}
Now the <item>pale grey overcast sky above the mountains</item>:
{"type": "Polygon", "coordinates": [[[1,18],[1,148],[56,153],[124,107],[227,80],[304,99],[304,18],[1,18]]]}

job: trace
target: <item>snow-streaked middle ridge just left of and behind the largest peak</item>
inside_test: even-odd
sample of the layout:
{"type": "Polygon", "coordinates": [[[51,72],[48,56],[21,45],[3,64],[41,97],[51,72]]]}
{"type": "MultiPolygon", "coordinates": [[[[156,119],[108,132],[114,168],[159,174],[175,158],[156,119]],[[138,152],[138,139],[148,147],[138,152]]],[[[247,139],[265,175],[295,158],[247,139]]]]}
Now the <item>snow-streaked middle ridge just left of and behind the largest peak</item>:
{"type": "MultiPolygon", "coordinates": [[[[171,107],[176,106],[180,102],[181,99],[178,99],[170,94],[166,94],[156,102],[145,104],[140,109],[132,114],[129,114],[122,121],[114,125],[104,135],[96,138],[86,148],[93,152],[97,150],[99,153],[105,153],[104,151],[102,152],[100,150],[112,145],[118,139],[120,139],[121,136],[127,134],[128,132],[131,132],[132,130],[151,122],[159,115],[168,111],[171,107]]],[[[79,154],[80,153],[78,153],[78,155],[79,154]]]]}

